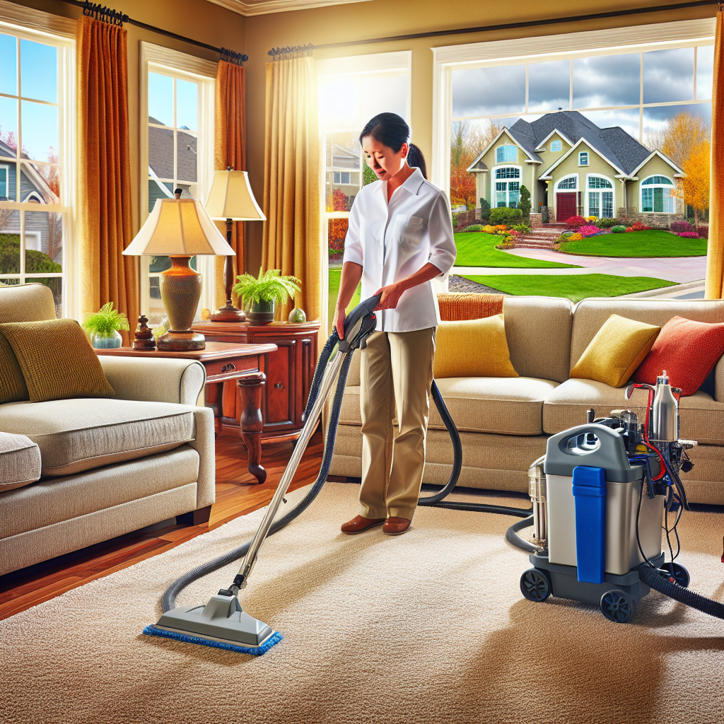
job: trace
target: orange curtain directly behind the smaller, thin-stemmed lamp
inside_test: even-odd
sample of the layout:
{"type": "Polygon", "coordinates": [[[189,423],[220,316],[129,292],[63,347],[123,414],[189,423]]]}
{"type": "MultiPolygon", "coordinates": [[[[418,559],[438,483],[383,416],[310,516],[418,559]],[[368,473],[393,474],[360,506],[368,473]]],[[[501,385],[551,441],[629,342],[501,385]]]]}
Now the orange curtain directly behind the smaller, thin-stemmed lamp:
{"type": "MultiPolygon", "coordinates": [[[[214,168],[223,171],[232,167],[235,171],[246,170],[246,69],[225,60],[219,61],[216,71],[216,104],[214,108],[214,168]]],[[[226,238],[226,224],[219,222],[226,238]]],[[[244,222],[235,222],[232,229],[232,249],[236,256],[231,257],[234,264],[234,278],[243,274],[246,268],[244,250],[244,222]]],[[[224,306],[224,257],[217,256],[216,270],[216,308],[224,306]]]]}

